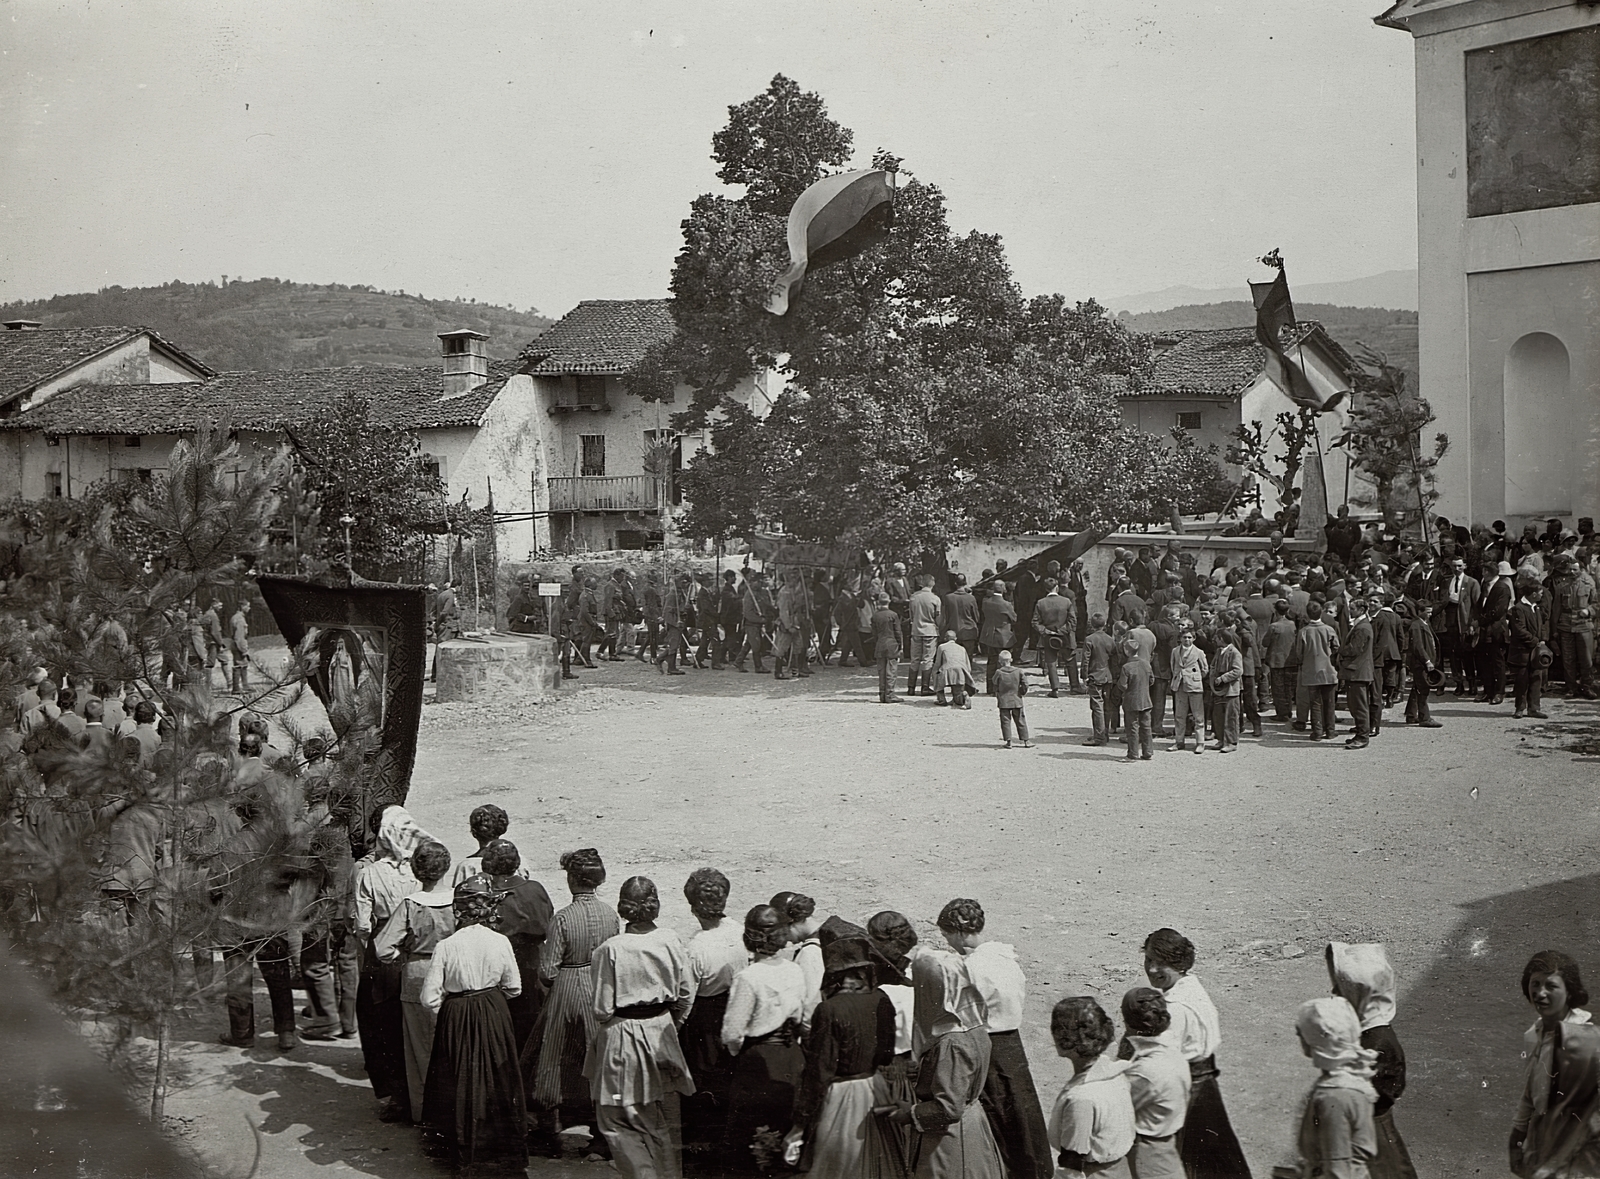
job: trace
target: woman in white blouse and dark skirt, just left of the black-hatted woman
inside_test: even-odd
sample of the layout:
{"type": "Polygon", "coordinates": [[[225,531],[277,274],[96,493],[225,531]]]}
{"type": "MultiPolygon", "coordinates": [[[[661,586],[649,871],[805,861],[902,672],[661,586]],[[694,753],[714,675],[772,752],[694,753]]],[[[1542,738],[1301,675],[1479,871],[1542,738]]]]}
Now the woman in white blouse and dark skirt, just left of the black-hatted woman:
{"type": "Polygon", "coordinates": [[[734,1057],[723,1136],[730,1171],[755,1173],[755,1150],[779,1150],[778,1139],[794,1123],[795,1088],[805,1065],[800,1037],[811,1022],[805,971],[782,957],[789,921],[771,905],[744,915],[744,947],[750,965],[733,976],[722,1043],[734,1057]],[[762,1142],[758,1133],[765,1131],[762,1142]],[[752,1150],[755,1147],[755,1150],[752,1150]]]}

